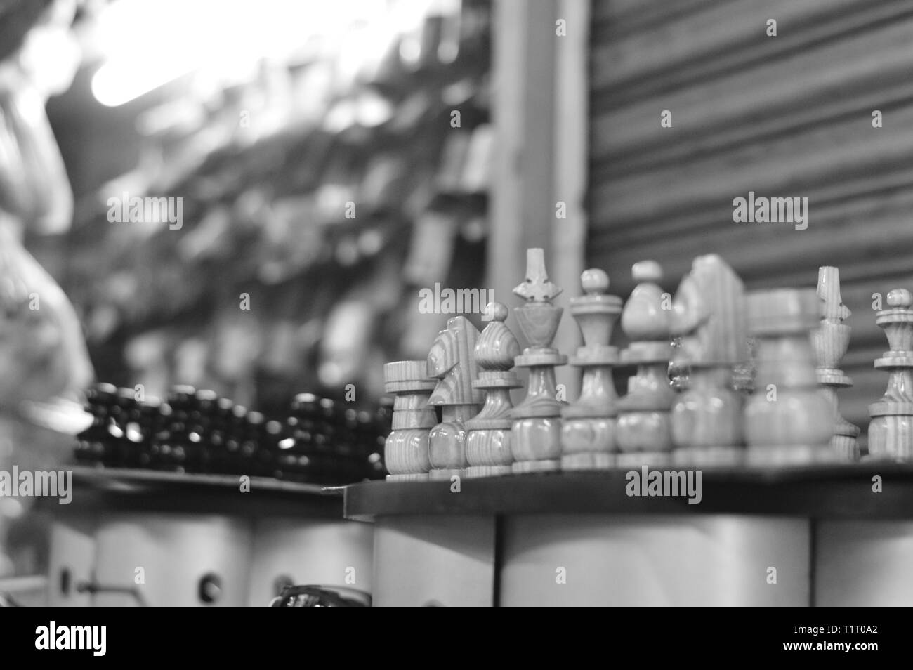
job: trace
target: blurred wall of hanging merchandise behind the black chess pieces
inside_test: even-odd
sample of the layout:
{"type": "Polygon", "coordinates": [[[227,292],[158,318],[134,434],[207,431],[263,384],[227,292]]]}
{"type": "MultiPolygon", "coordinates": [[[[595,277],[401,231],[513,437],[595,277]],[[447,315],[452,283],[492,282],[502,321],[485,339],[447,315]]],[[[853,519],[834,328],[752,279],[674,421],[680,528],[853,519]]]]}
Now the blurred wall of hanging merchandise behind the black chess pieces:
{"type": "MultiPolygon", "coordinates": [[[[304,5],[255,6],[249,30],[268,25],[267,51],[246,47],[230,72],[201,66],[124,105],[138,158],[80,194],[68,239],[100,377],[142,382],[155,361],[156,384],[187,382],[177,352],[192,340],[207,352],[192,366],[200,383],[258,408],[302,388],[341,398],[347,384],[370,402],[383,393],[372,361],[441,325],[416,317],[418,290],[481,286],[489,3],[304,5]],[[292,31],[277,24],[299,15],[307,29],[281,46],[292,31]],[[112,197],[180,198],[183,224],[112,222],[112,197]],[[446,236],[430,221],[449,222],[446,236]],[[151,333],[163,342],[152,357],[140,344],[151,333]],[[276,347],[296,364],[277,366],[276,347]]],[[[233,34],[236,19],[219,20],[233,34]]],[[[118,62],[94,61],[97,96],[118,62]]]]}

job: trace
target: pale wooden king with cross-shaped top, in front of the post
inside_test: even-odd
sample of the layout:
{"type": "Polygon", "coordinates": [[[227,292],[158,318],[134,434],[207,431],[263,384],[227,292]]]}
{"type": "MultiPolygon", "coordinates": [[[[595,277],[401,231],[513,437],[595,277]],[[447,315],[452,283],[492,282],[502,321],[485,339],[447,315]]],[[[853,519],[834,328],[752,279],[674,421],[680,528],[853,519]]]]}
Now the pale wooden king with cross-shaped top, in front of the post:
{"type": "Polygon", "coordinates": [[[526,281],[514,288],[526,299],[514,308],[519,330],[530,343],[515,360],[518,368],[530,369],[526,398],[510,412],[513,425],[510,448],[515,473],[544,472],[561,467],[561,407],[556,398],[555,367],[567,362],[551,346],[561,321],[560,307],[551,300],[561,293],[545,272],[541,249],[526,251],[526,281]]]}

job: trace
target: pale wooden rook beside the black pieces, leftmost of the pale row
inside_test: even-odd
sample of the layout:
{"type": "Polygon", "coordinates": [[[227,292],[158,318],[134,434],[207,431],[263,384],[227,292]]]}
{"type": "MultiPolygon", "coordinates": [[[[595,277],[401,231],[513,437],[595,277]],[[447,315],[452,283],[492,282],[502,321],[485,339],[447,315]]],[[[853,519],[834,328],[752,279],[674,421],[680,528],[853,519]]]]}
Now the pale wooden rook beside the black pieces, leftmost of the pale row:
{"type": "Polygon", "coordinates": [[[394,361],[383,366],[383,390],[393,393],[393,431],[383,445],[383,462],[391,481],[428,478],[428,433],[437,423],[428,398],[436,382],[428,379],[425,361],[394,361]]]}

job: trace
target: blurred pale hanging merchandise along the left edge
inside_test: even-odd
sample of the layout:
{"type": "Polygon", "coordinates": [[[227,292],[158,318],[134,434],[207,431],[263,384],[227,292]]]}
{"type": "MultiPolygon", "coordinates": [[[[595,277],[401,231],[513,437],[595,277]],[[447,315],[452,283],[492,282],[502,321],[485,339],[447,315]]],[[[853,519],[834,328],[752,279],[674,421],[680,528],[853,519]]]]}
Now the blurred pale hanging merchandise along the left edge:
{"type": "Polygon", "coordinates": [[[53,3],[37,14],[21,4],[6,9],[34,23],[23,24],[27,32],[17,38],[5,36],[19,47],[0,61],[0,413],[55,428],[67,425],[70,404],[59,402],[56,414],[54,403],[84,389],[92,368],[68,298],[21,238],[70,225],[73,196],[45,101],[68,87],[79,60],[68,35],[75,4],[53,3]],[[55,46],[60,58],[40,56],[55,46]]]}

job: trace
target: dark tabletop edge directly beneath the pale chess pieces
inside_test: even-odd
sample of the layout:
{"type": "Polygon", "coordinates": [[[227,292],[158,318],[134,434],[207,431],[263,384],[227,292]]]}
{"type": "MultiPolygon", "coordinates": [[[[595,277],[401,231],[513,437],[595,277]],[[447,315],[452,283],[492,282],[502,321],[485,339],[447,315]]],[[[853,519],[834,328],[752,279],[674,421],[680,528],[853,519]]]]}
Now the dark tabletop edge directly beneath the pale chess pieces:
{"type": "MultiPolygon", "coordinates": [[[[656,468],[651,468],[651,470],[656,468]]],[[[684,470],[668,466],[668,470],[684,470]]],[[[739,514],[803,518],[913,518],[913,466],[893,462],[792,467],[704,467],[701,499],[629,496],[639,468],[345,487],[345,516],[739,514]],[[874,477],[880,476],[880,492],[874,477]]]]}

